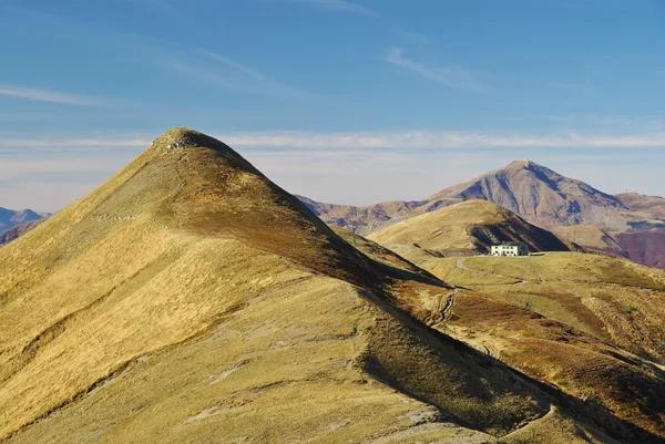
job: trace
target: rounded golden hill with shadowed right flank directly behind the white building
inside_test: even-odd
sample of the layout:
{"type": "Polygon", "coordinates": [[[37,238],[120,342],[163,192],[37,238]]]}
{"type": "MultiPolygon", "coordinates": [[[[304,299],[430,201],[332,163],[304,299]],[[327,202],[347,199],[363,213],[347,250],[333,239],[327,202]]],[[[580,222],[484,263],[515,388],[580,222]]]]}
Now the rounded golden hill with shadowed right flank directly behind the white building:
{"type": "Polygon", "coordinates": [[[531,251],[570,251],[574,246],[550,231],[529,224],[514,213],[487,200],[467,200],[427,213],[369,236],[389,246],[417,244],[439,254],[459,255],[464,250],[490,252],[491,246],[520,241],[531,251]]]}

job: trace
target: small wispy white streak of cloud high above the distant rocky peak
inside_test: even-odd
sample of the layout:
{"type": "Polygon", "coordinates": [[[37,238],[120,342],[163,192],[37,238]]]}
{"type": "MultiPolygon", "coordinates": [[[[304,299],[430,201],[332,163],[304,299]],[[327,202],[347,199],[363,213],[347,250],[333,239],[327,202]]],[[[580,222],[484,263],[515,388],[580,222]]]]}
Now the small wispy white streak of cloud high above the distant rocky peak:
{"type": "Polygon", "coordinates": [[[382,61],[413,71],[424,79],[442,83],[451,87],[461,87],[472,91],[482,91],[483,86],[466,69],[456,65],[443,68],[429,68],[408,59],[401,48],[392,48],[382,61]]]}

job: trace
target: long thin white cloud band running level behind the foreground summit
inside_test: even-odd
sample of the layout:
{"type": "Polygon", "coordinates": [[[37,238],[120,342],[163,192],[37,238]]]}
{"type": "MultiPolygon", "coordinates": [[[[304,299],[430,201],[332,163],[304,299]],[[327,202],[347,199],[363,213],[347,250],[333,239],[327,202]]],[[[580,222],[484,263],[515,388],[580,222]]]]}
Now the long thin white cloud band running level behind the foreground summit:
{"type": "MultiPolygon", "coordinates": [[[[232,147],[243,149],[289,151],[438,151],[438,149],[511,149],[511,148],[663,148],[665,132],[643,134],[589,134],[589,133],[484,133],[484,132],[254,132],[217,133],[216,137],[232,147]]],[[[151,137],[131,135],[123,137],[85,138],[17,138],[0,137],[0,152],[7,149],[145,149],[151,137]]]]}

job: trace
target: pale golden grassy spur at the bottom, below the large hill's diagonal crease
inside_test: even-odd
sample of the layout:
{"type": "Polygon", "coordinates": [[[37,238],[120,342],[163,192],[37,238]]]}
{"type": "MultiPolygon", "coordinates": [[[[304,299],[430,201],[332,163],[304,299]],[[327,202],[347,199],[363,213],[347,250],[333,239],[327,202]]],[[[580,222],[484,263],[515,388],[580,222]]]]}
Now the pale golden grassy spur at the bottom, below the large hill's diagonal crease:
{"type": "Polygon", "coordinates": [[[238,288],[242,303],[214,329],[135,355],[115,379],[12,441],[51,443],[68,432],[109,443],[359,442],[412,425],[427,405],[354,361],[376,309],[347,283],[289,270],[276,257],[266,265],[282,276],[238,288]]]}

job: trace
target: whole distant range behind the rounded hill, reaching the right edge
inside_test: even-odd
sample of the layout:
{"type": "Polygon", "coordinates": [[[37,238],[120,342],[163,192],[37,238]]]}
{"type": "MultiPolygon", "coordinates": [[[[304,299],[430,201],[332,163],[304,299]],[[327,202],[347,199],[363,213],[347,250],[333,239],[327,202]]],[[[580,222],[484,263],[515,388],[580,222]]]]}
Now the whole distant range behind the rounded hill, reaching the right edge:
{"type": "Polygon", "coordinates": [[[355,207],[300,199],[324,221],[354,225],[362,235],[460,202],[482,199],[577,245],[665,268],[664,249],[654,247],[665,245],[665,198],[613,196],[526,159],[422,200],[355,207]]]}

